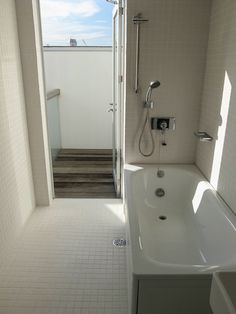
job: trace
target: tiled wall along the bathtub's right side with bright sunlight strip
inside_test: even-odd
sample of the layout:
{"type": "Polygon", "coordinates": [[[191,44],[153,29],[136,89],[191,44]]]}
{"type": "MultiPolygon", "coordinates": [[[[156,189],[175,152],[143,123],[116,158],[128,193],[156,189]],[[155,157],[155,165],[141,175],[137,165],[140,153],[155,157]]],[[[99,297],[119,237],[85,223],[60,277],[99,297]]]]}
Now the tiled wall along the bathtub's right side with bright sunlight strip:
{"type": "Polygon", "coordinates": [[[236,2],[213,0],[200,129],[214,141],[198,144],[196,162],[236,212],[235,34],[236,2]]]}

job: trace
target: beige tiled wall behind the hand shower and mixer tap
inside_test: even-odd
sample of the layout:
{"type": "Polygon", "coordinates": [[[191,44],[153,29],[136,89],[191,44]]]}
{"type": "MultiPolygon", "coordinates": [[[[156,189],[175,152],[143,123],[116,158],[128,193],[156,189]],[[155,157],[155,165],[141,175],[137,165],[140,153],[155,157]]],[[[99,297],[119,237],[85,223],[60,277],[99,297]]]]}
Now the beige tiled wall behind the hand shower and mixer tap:
{"type": "MultiPolygon", "coordinates": [[[[193,163],[201,90],[208,40],[210,0],[129,0],[127,2],[126,162],[193,163]],[[140,94],[135,95],[133,15],[141,12],[149,22],[141,25],[140,94]],[[138,138],[144,118],[142,102],[151,80],[161,86],[153,91],[152,116],[176,117],[176,131],[166,136],[167,146],[158,156],[143,158],[138,138]]],[[[147,137],[146,137],[147,139],[147,137]]],[[[150,140],[150,139],[149,139],[150,140]]]]}

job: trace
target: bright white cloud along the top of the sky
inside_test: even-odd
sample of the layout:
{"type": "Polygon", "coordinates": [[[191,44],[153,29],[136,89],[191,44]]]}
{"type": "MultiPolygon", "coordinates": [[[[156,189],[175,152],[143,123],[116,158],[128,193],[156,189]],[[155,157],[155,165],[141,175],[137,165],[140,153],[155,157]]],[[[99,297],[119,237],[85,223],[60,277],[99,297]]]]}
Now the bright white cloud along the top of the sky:
{"type": "Polygon", "coordinates": [[[70,15],[77,15],[81,17],[90,17],[100,11],[100,8],[94,0],[82,0],[78,3],[70,1],[53,1],[42,0],[41,12],[42,19],[48,18],[66,18],[70,15]]]}

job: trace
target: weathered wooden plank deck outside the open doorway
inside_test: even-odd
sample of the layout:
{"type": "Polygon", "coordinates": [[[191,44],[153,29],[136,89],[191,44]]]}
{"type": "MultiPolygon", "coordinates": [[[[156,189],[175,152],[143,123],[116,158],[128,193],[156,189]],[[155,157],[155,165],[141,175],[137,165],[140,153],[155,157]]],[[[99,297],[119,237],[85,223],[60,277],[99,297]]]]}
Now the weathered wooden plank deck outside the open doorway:
{"type": "Polygon", "coordinates": [[[116,198],[110,149],[61,149],[53,177],[56,198],[116,198]]]}

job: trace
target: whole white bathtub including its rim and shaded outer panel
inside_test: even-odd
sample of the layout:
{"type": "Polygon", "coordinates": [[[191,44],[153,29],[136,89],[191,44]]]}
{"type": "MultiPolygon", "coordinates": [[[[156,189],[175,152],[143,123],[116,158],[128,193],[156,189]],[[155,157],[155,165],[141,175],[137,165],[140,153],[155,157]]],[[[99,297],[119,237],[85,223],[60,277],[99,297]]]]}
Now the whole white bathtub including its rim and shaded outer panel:
{"type": "MultiPolygon", "coordinates": [[[[191,295],[196,299],[192,308],[186,305],[186,311],[180,313],[211,313],[210,274],[236,265],[236,216],[195,166],[161,165],[159,169],[164,171],[161,178],[157,176],[158,166],[125,167],[131,312],[145,313],[145,304],[153,303],[155,307],[157,302],[160,306],[160,300],[153,300],[150,294],[157,288],[160,296],[160,284],[163,288],[171,279],[168,287],[177,285],[179,291],[187,283],[192,285],[191,295]],[[163,197],[156,196],[158,188],[164,190],[163,197]],[[164,281],[161,283],[160,279],[164,281]],[[193,295],[196,287],[198,295],[202,293],[199,299],[193,295]],[[205,305],[198,308],[201,302],[205,305]]],[[[186,289],[182,297],[186,299],[186,289]]],[[[191,296],[187,298],[193,303],[191,296]]],[[[177,303],[173,302],[173,313],[178,313],[177,303]]],[[[159,312],[154,309],[147,313],[159,312]]],[[[163,307],[160,313],[172,312],[163,307]]]]}

